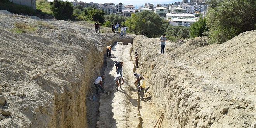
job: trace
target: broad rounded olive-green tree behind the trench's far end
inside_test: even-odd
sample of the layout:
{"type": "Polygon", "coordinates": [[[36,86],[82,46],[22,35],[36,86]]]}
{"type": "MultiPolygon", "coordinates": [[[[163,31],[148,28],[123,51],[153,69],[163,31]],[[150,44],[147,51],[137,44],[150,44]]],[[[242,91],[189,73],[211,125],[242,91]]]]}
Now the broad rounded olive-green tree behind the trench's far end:
{"type": "Polygon", "coordinates": [[[131,17],[125,21],[125,25],[128,26],[129,31],[147,37],[157,37],[163,34],[162,24],[163,20],[160,16],[149,11],[132,13],[131,17]]]}

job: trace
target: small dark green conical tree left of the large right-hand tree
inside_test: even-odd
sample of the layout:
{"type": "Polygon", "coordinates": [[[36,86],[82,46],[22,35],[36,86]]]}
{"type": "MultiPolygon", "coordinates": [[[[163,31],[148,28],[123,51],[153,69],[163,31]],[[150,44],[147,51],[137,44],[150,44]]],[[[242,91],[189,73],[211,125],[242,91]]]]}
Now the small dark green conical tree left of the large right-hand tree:
{"type": "Polygon", "coordinates": [[[206,18],[200,17],[197,22],[194,22],[190,26],[190,36],[191,37],[200,37],[200,36],[207,36],[204,35],[207,31],[209,31],[209,28],[206,26],[206,18]]]}

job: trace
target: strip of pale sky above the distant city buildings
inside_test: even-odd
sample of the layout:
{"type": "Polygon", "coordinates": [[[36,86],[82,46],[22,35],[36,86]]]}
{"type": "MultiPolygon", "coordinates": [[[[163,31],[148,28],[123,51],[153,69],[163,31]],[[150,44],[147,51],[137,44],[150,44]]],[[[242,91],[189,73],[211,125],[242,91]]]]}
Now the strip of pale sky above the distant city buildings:
{"type": "MultiPolygon", "coordinates": [[[[48,0],[53,1],[53,0],[48,0]]],[[[66,0],[62,0],[66,1],[66,0]]],[[[74,0],[67,0],[67,1],[74,1],[74,0]]],[[[86,3],[93,2],[93,3],[114,3],[115,5],[118,3],[122,3],[124,5],[134,5],[134,7],[137,8],[141,5],[145,5],[145,3],[151,3],[151,4],[168,4],[168,3],[175,3],[180,0],[77,0],[77,1],[83,1],[86,3]]]]}

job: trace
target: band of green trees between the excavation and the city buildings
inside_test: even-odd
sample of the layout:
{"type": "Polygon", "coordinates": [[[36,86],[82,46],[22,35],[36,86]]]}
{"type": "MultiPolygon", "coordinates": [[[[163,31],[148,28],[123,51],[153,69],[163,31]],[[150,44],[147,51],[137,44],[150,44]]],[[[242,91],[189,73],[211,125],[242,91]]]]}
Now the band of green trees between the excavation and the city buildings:
{"type": "MultiPolygon", "coordinates": [[[[128,27],[130,33],[145,35],[150,38],[165,34],[180,39],[208,36],[210,43],[224,43],[242,32],[256,28],[255,0],[207,0],[209,8],[206,17],[199,17],[190,27],[172,26],[154,12],[132,13],[131,17],[118,14],[105,15],[96,7],[73,7],[71,2],[54,0],[50,2],[56,19],[75,19],[99,21],[106,27],[117,22],[128,27]]],[[[198,15],[200,16],[200,15],[198,15]]]]}

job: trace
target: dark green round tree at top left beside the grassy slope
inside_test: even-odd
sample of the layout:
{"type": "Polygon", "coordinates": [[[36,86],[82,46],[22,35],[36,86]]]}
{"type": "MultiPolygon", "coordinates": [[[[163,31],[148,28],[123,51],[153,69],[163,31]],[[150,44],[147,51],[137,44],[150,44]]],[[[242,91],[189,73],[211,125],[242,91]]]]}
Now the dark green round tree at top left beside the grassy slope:
{"type": "Polygon", "coordinates": [[[62,2],[61,0],[54,0],[50,2],[53,16],[56,19],[71,19],[73,14],[73,4],[71,2],[62,2]]]}

